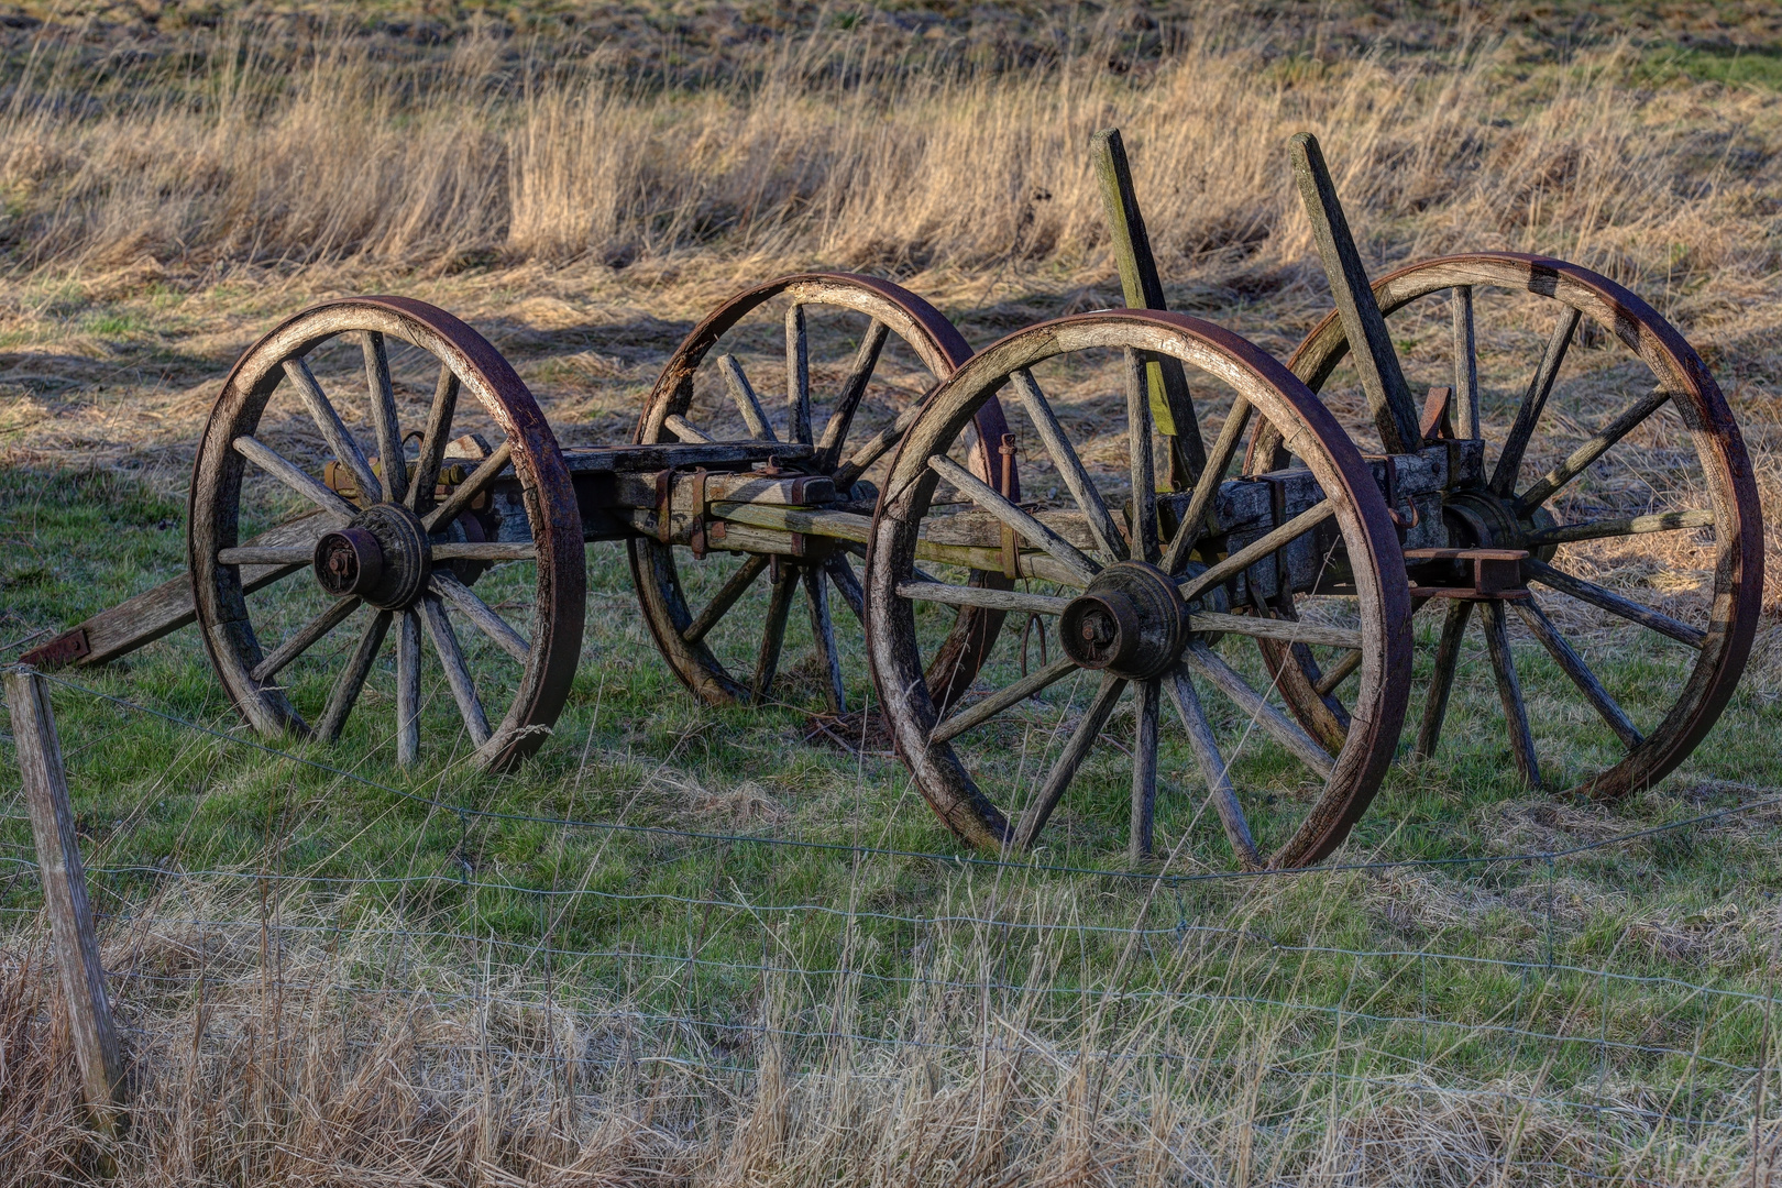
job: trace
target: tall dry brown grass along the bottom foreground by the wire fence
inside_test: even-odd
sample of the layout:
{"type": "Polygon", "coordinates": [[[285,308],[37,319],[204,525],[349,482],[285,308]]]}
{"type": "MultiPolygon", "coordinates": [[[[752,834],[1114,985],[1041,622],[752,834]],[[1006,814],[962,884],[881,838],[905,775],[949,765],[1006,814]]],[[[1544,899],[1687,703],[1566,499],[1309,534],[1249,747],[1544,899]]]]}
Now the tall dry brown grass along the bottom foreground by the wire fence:
{"type": "MultiPolygon", "coordinates": [[[[1388,878],[1395,899],[1422,894],[1418,876],[1388,878]]],[[[1345,1037],[1246,999],[1260,967],[1304,997],[1329,960],[1315,953],[1251,946],[1240,960],[1230,940],[1190,940],[1140,962],[1199,994],[1060,1008],[1042,987],[1078,960],[1064,901],[1009,915],[1057,928],[1014,969],[996,928],[955,924],[928,933],[923,980],[891,1001],[862,1006],[880,992],[870,976],[775,956],[747,1013],[675,1022],[469,937],[392,939],[401,921],[378,915],[342,932],[339,903],[303,896],[260,901],[267,933],[251,891],[219,894],[175,892],[107,942],[107,965],[130,971],[132,1127],[105,1151],[125,1183],[1461,1186],[1613,1168],[1616,1183],[1714,1184],[1750,1167],[1739,1129],[1648,1124],[1643,1111],[1680,1103],[1639,1079],[1538,1056],[1440,1072],[1520,1021],[1497,1005],[1477,1031],[1436,1031],[1429,1063],[1388,1070],[1361,1058],[1377,1028],[1345,1037]]],[[[1304,907],[1315,944],[1333,921],[1304,907]]],[[[871,944],[841,967],[871,965],[871,944]]],[[[86,1179],[102,1152],[80,1127],[41,946],[7,948],[0,978],[0,1179],[86,1179]]],[[[1351,974],[1342,1003],[1365,1021],[1392,981],[1351,974]]],[[[1547,1022],[1588,1037],[1593,985],[1547,987],[1536,1010],[1552,999],[1547,1022]]],[[[1641,1042],[1686,1056],[1689,1026],[1659,1013],[1641,1042]]]]}

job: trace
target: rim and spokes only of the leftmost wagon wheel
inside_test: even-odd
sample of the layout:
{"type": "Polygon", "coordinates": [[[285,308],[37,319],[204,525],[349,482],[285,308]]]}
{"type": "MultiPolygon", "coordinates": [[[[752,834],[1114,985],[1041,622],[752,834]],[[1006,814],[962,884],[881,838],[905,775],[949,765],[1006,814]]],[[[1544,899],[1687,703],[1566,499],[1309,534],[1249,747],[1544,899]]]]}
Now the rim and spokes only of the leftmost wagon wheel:
{"type": "MultiPolygon", "coordinates": [[[[417,759],[422,636],[433,639],[447,684],[465,716],[465,727],[476,743],[472,757],[476,764],[510,768],[538,750],[561,712],[581,654],[586,598],[576,493],[556,435],[531,392],[481,335],[444,310],[408,297],[330,301],[290,317],[249,347],[223,383],[223,394],[210,411],[198,445],[187,552],[205,647],[235,707],[262,734],[310,732],[310,723],[287,700],[278,671],[266,670],[269,655],[274,657],[274,668],[283,668],[307,647],[347,623],[353,623],[353,629],[362,623],[364,631],[323,711],[324,737],[339,734],[387,634],[396,636],[397,647],[401,762],[417,759]],[[356,335],[362,340],[365,356],[362,383],[367,388],[364,399],[371,406],[376,436],[376,445],[369,452],[344,427],[339,411],[303,365],[310,351],[340,335],[356,335]],[[424,438],[421,456],[408,463],[412,470],[405,465],[403,476],[396,476],[387,461],[381,472],[372,472],[367,463],[367,454],[388,460],[403,452],[405,433],[390,395],[387,362],[390,340],[412,344],[440,363],[428,422],[412,426],[424,438]],[[333,460],[362,488],[371,488],[376,499],[365,495],[346,500],[321,481],[323,476],[258,442],[255,433],[274,394],[298,410],[308,404],[308,413],[328,440],[333,460]],[[492,461],[462,463],[462,468],[472,472],[453,488],[444,504],[438,504],[435,481],[442,452],[453,436],[456,410],[463,406],[465,395],[474,399],[476,408],[486,413],[504,440],[492,443],[495,456],[492,461]],[[287,549],[296,550],[290,557],[271,554],[258,557],[248,556],[251,550],[237,550],[242,479],[249,463],[317,504],[317,515],[310,517],[308,527],[299,533],[301,540],[287,541],[287,549]],[[519,504],[524,508],[531,536],[529,549],[503,547],[506,554],[524,552],[536,568],[536,616],[531,638],[520,638],[460,581],[478,577],[483,568],[483,563],[474,561],[478,556],[508,559],[506,554],[497,557],[501,549],[494,543],[478,545],[469,540],[462,525],[472,497],[492,490],[503,474],[511,474],[519,483],[519,504]],[[385,488],[387,477],[394,479],[390,488],[385,488]],[[283,639],[271,654],[264,652],[242,590],[242,566],[255,561],[280,561],[285,572],[294,575],[287,577],[287,582],[317,581],[317,572],[310,565],[296,561],[298,552],[314,547],[326,529],[342,527],[349,518],[367,515],[367,504],[381,508],[385,520],[396,525],[390,531],[406,525],[421,534],[421,552],[415,556],[426,559],[415,561],[410,554],[401,554],[403,563],[412,568],[413,590],[383,591],[378,597],[385,602],[367,607],[360,606],[358,597],[340,598],[328,604],[321,616],[283,639]],[[431,557],[431,550],[442,545],[453,545],[458,559],[431,557]],[[488,634],[504,652],[522,657],[517,659],[520,675],[511,702],[495,725],[486,721],[486,711],[481,709],[474,673],[465,663],[463,648],[458,647],[447,611],[458,614],[460,623],[488,634]]],[[[396,552],[390,556],[396,557],[396,552]]]]}

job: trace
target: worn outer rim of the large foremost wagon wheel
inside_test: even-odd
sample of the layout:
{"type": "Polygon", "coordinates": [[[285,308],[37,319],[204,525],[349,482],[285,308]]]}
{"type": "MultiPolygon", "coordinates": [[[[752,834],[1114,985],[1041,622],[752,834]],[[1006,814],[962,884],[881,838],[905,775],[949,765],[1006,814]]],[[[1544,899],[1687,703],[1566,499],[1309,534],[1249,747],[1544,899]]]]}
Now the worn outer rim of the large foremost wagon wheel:
{"type": "Polygon", "coordinates": [[[1365,728],[1351,730],[1324,794],[1269,858],[1269,866],[1278,867],[1308,866],[1340,846],[1367,812],[1397,746],[1411,664],[1410,597],[1402,584],[1385,575],[1402,574],[1404,559],[1367,465],[1312,390],[1246,338],[1181,313],[1105,310],[1019,330],[960,367],[911,426],[879,497],[866,566],[868,655],[898,755],[957,835],[987,850],[1010,844],[1007,818],[977,785],[953,746],[928,745],[939,712],[914,679],[921,671],[914,613],[895,588],[914,563],[921,518],[937,486],[925,465],[928,454],[957,440],[977,406],[991,399],[1012,370],[1075,349],[1119,346],[1201,365],[1242,390],[1263,419],[1290,420],[1296,431],[1319,443],[1319,456],[1310,465],[1320,484],[1338,493],[1338,522],[1351,549],[1363,634],[1369,636],[1360,689],[1372,712],[1358,716],[1365,728]]]}

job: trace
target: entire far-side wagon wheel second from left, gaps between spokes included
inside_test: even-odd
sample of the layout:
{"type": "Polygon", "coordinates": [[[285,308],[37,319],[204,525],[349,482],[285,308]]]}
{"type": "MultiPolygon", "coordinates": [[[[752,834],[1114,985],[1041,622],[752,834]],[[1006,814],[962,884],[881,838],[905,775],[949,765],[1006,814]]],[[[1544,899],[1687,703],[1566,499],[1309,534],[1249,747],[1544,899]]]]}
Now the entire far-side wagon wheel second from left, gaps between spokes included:
{"type": "MultiPolygon", "coordinates": [[[[814,445],[816,458],[805,468],[834,481],[843,509],[864,513],[877,499],[873,479],[927,392],[969,356],[971,347],[952,322],[889,281],[843,273],[784,276],[731,297],[688,335],[650,392],[636,440],[814,445]],[[825,363],[825,349],[836,356],[834,365],[825,363]],[[768,379],[782,385],[779,399],[757,387],[768,379]],[[834,401],[818,422],[825,388],[834,401]],[[770,411],[773,404],[777,411],[770,411]]],[[[987,442],[989,449],[971,451],[973,472],[1018,497],[1014,463],[996,449],[1007,426],[994,399],[978,410],[975,427],[977,442],[987,442]]],[[[718,705],[782,700],[775,698],[773,684],[802,586],[813,684],[829,712],[846,711],[850,650],[838,645],[829,588],[862,620],[861,579],[846,541],[807,536],[804,547],[807,552],[798,557],[740,550],[695,557],[684,545],[631,541],[631,572],[645,622],[688,689],[718,705]],[[763,574],[764,597],[748,597],[763,574]],[[702,609],[695,613],[699,604],[702,609]],[[732,668],[741,675],[732,675],[732,668]]],[[[864,554],[864,547],[854,549],[864,554]]],[[[1007,581],[980,574],[975,584],[1007,581]]],[[[946,647],[930,664],[937,696],[948,700],[971,684],[1001,620],[994,609],[959,611],[946,647]]]]}

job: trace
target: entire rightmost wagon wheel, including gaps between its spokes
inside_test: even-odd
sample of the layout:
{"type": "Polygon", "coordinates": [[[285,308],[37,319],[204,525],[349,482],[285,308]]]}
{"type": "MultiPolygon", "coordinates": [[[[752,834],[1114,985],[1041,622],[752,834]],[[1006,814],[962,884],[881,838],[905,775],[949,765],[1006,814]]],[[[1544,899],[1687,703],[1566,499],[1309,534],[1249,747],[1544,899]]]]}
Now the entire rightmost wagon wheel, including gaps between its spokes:
{"type": "MultiPolygon", "coordinates": [[[[1452,436],[1483,436],[1479,420],[1481,354],[1515,335],[1475,324],[1488,290],[1522,294],[1536,305],[1536,322],[1550,322],[1545,349],[1527,344],[1516,369],[1527,387],[1502,435],[1492,433],[1484,481],[1443,495],[1443,520],[1458,545],[1527,550],[1531,597],[1481,600],[1488,655],[1504,705],[1511,753],[1531,785],[1574,785],[1579,794],[1618,798],[1650,787],[1680,764],[1713,728],[1732,696],[1752,647],[1762,597],[1762,524],[1757,486],[1739,429],[1695,349],[1645,301],[1590,269],[1520,253],[1472,253],[1426,260],[1374,283],[1385,315],[1401,315],[1395,335],[1411,335],[1426,297],[1443,301],[1452,326],[1452,363],[1429,367],[1431,387],[1452,390],[1452,436]],[[1541,315],[1540,306],[1552,308],[1541,315]],[[1606,349],[1620,342],[1650,379],[1625,379],[1609,394],[1591,394],[1588,379],[1556,385],[1581,333],[1606,349]],[[1666,411],[1670,410],[1670,411],[1666,411]],[[1657,447],[1661,452],[1654,452],[1657,447]],[[1636,451],[1645,451],[1638,461],[1636,451]],[[1495,458],[1492,456],[1495,454],[1495,458]],[[1693,465],[1689,465],[1693,463],[1693,465]],[[1636,538],[1650,545],[1670,534],[1663,572],[1666,590],[1631,586],[1606,572],[1638,561],[1636,538]],[[1586,572],[1597,570],[1591,581],[1586,572]],[[1704,575],[1700,581],[1695,575],[1704,575]],[[1693,591],[1688,586],[1695,582],[1693,591]],[[1513,647],[1515,616],[1529,636],[1513,647]],[[1634,652],[1638,650],[1638,652],[1634,652]],[[1639,654],[1643,671],[1606,684],[1588,655],[1639,654]],[[1518,654],[1520,659],[1518,659],[1518,654]],[[1570,704],[1529,712],[1525,682],[1538,655],[1563,673],[1547,689],[1570,688],[1570,704]],[[1522,670],[1518,675],[1518,668],[1522,670]],[[1541,771],[1536,734],[1595,721],[1593,762],[1600,769],[1541,771]]],[[[1490,308],[1511,313],[1509,301],[1490,308]]],[[[1445,328],[1443,328],[1443,333],[1445,328]]],[[[1299,346],[1288,367],[1322,390],[1349,354],[1333,312],[1299,346]]],[[[1417,376],[1417,363],[1406,370],[1417,376]]],[[[1591,369],[1600,374],[1602,369],[1591,369]]],[[[1508,413],[1508,410],[1506,410],[1508,413]]],[[[1647,566],[1652,568],[1652,566],[1647,566]]],[[[1436,598],[1443,613],[1417,752],[1435,752],[1461,654],[1472,602],[1436,598]]],[[[1281,688],[1296,714],[1312,727],[1340,714],[1344,673],[1315,664],[1287,664],[1281,688]],[[1326,696],[1320,696],[1322,693],[1326,696]]],[[[1554,696],[1543,693],[1543,696],[1554,696]]],[[[1342,732],[1333,730],[1331,741],[1342,732]]],[[[1577,748],[1574,748],[1577,750],[1577,748]]],[[[1591,764],[1584,764],[1593,766],[1591,764]]]]}

